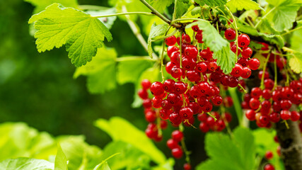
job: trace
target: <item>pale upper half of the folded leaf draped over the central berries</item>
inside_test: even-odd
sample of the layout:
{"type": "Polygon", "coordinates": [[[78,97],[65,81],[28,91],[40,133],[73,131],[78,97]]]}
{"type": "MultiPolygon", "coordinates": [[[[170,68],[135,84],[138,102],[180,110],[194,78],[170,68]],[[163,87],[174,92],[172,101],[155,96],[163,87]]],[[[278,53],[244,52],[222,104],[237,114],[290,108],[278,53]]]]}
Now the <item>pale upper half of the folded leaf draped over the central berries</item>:
{"type": "Polygon", "coordinates": [[[194,23],[190,23],[186,26],[186,28],[191,28],[192,26],[198,26],[201,29],[204,43],[211,49],[213,52],[218,52],[222,50],[223,47],[227,47],[230,44],[227,40],[221,37],[221,35],[217,32],[217,30],[211,26],[211,23],[208,21],[197,21],[194,23]]]}

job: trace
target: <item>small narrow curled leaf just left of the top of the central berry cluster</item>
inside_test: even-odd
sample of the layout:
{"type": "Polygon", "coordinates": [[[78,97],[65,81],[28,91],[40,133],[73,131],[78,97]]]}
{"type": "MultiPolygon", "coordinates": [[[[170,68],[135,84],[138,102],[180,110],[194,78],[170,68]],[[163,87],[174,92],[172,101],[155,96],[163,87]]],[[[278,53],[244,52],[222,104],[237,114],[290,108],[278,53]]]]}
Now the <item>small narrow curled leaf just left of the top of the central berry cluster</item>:
{"type": "Polygon", "coordinates": [[[156,23],[153,23],[151,30],[150,30],[149,38],[148,38],[148,52],[149,52],[149,56],[151,58],[153,58],[153,56],[152,56],[153,50],[152,50],[152,46],[151,46],[152,38],[157,38],[161,35],[165,35],[168,28],[169,28],[169,26],[167,24],[159,24],[156,26],[156,23]]]}

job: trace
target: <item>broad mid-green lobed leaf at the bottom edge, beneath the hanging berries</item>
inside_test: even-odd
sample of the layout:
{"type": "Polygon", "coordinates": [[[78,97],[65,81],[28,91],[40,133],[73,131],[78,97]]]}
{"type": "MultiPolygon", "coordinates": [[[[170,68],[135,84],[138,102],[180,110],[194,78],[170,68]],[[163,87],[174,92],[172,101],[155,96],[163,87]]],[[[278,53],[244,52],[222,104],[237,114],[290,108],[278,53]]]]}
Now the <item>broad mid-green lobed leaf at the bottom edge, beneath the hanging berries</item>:
{"type": "Polygon", "coordinates": [[[205,140],[210,159],[197,170],[247,170],[254,168],[255,142],[252,132],[236,128],[233,140],[223,133],[208,133],[205,140]],[[235,161],[236,160],[236,161],[235,161]]]}

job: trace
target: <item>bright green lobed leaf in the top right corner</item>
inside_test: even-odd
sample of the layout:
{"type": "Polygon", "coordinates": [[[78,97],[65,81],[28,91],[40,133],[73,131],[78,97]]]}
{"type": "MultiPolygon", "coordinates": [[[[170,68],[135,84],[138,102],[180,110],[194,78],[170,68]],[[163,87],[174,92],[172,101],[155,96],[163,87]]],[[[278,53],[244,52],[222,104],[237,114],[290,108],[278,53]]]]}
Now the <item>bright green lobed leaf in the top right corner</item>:
{"type": "Polygon", "coordinates": [[[268,0],[267,19],[272,22],[274,29],[282,32],[293,26],[296,20],[297,11],[302,5],[301,0],[268,0]]]}

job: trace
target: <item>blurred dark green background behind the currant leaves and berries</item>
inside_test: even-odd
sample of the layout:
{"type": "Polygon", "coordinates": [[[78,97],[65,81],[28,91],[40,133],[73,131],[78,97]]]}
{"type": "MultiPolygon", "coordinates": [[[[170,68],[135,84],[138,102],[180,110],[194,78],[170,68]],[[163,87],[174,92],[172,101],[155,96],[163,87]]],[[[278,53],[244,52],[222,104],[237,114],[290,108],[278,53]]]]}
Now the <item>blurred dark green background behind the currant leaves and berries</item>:
{"type": "MultiPolygon", "coordinates": [[[[108,6],[103,0],[80,0],[79,4],[108,6]]],[[[131,108],[133,84],[92,95],[86,89],[85,77],[72,78],[76,68],[64,47],[37,52],[28,25],[33,9],[21,0],[0,1],[0,123],[21,121],[54,136],[83,134],[89,144],[100,147],[110,142],[110,137],[94,127],[97,118],[117,115],[145,130],[148,123],[143,108],[131,108]]],[[[146,55],[126,22],[117,18],[110,32],[113,41],[106,45],[115,47],[119,56],[146,55]]],[[[173,129],[165,130],[163,141],[157,144],[167,157],[171,155],[165,141],[173,129]]],[[[206,159],[204,134],[188,128],[185,137],[188,149],[194,151],[192,165],[206,159]]],[[[184,162],[177,164],[181,167],[184,162]]]]}

